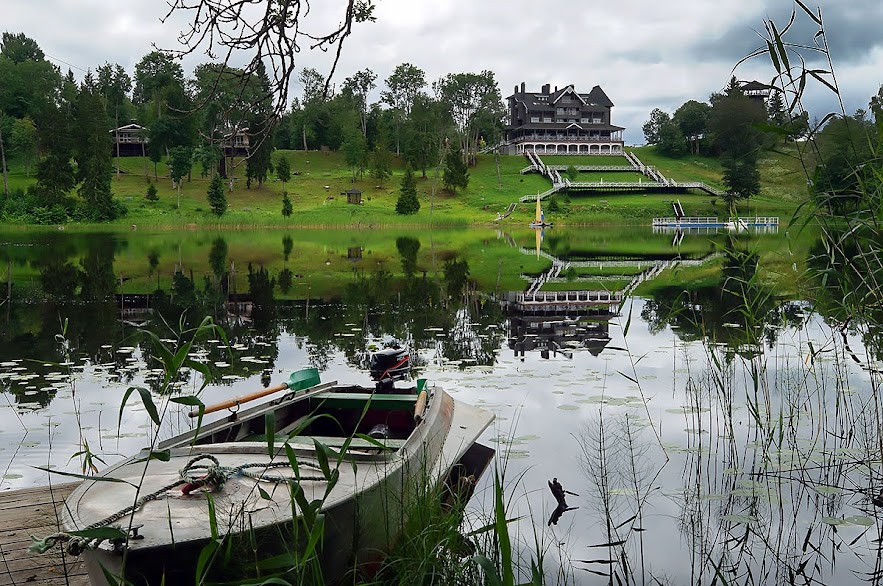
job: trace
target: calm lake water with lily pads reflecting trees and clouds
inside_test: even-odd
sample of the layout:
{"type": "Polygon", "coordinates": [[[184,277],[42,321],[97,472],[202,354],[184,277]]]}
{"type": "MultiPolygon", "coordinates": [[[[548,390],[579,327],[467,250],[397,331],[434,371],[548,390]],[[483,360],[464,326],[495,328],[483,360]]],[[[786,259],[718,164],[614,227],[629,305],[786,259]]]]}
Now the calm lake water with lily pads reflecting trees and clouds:
{"type": "MultiPolygon", "coordinates": [[[[85,442],[102,467],[154,433],[188,428],[177,406],[155,430],[135,396],[122,416],[120,403],[129,386],[157,386],[139,328],[172,344],[178,322],[164,325],[161,312],[195,305],[189,325],[214,313],[230,346],[212,338],[193,354],[216,372],[207,403],[309,365],[325,380],[366,383],[358,362],[366,341],[410,339],[421,376],[496,414],[483,440],[505,467],[511,516],[525,515],[513,530],[528,550],[538,536],[547,570],[564,568],[562,581],[603,584],[613,573],[623,582],[711,583],[718,572],[739,584],[879,581],[870,500],[881,485],[879,364],[862,328],[841,335],[808,303],[767,299],[775,285],[766,284],[741,290],[760,300],[751,319],[720,286],[689,298],[660,288],[622,307],[543,316],[500,303],[549,268],[545,255],[633,275],[635,262],[719,255],[725,236],[688,236],[676,249],[671,235],[647,231],[649,252],[638,254],[633,230],[558,232],[539,255],[527,232],[412,241],[314,233],[290,235],[290,245],[285,237],[9,236],[0,490],[49,482],[37,467],[81,471],[73,455],[85,442]],[[276,243],[272,251],[264,239],[276,243]],[[164,294],[144,311],[143,294],[157,283],[164,294]],[[261,306],[224,304],[245,294],[261,306]],[[550,526],[553,477],[579,495],[568,497],[579,508],[550,526]]],[[[744,260],[727,256],[723,270],[749,270],[744,260]]],[[[571,286],[587,278],[607,282],[571,275],[571,286]]],[[[195,374],[176,383],[182,393],[200,384],[195,374]]],[[[473,500],[476,519],[491,510],[491,476],[473,500]]]]}

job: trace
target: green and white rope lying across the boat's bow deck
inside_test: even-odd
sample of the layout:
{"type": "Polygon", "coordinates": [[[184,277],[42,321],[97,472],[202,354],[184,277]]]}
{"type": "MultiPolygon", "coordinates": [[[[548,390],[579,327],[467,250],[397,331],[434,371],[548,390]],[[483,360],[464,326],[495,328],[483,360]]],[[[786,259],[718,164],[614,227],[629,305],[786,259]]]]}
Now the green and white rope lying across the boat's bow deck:
{"type": "MultiPolygon", "coordinates": [[[[187,462],[184,468],[182,468],[178,472],[178,474],[180,475],[180,478],[178,480],[171,482],[151,492],[150,494],[145,494],[141,496],[128,507],[117,511],[116,513],[113,513],[112,515],[109,515],[104,519],[101,519],[100,521],[96,521],[91,525],[84,527],[81,531],[89,531],[91,529],[107,527],[111,523],[123,519],[126,515],[130,513],[134,513],[135,511],[143,507],[146,503],[157,500],[160,496],[182,484],[184,485],[184,487],[182,487],[181,492],[185,495],[189,495],[194,490],[206,487],[211,490],[221,490],[227,480],[233,478],[234,476],[243,476],[245,478],[251,478],[259,482],[264,481],[275,483],[291,482],[292,480],[297,480],[299,482],[324,482],[325,480],[327,480],[324,476],[298,476],[297,478],[292,478],[290,476],[269,475],[262,472],[251,472],[249,470],[250,468],[262,468],[264,470],[268,470],[272,468],[284,468],[289,466],[289,462],[249,462],[247,464],[240,464],[239,466],[221,466],[221,463],[218,461],[218,459],[211,454],[197,456],[187,462]],[[201,460],[209,460],[211,464],[198,464],[198,462],[200,462],[201,460]],[[192,474],[193,472],[202,472],[202,474],[196,475],[192,474]]],[[[316,470],[321,469],[318,464],[314,464],[313,462],[299,462],[298,466],[313,468],[316,470]]],[[[119,527],[116,528],[119,529],[119,527]]],[[[48,535],[43,539],[37,539],[32,535],[32,543],[30,547],[28,547],[28,551],[32,553],[45,553],[56,543],[66,542],[67,552],[73,556],[78,556],[86,549],[97,549],[98,546],[107,539],[107,537],[80,537],[78,535],[71,535],[66,531],[53,533],[52,535],[48,535]]]]}

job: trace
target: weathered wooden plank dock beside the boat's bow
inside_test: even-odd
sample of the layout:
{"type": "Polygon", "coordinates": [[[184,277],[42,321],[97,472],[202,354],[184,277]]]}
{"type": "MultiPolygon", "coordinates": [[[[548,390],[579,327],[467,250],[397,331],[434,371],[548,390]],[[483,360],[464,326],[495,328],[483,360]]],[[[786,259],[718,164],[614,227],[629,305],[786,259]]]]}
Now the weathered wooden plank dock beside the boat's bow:
{"type": "Polygon", "coordinates": [[[28,552],[31,535],[45,537],[58,530],[64,499],[76,486],[56,484],[0,493],[0,586],[88,586],[82,561],[60,546],[44,554],[28,552]]]}

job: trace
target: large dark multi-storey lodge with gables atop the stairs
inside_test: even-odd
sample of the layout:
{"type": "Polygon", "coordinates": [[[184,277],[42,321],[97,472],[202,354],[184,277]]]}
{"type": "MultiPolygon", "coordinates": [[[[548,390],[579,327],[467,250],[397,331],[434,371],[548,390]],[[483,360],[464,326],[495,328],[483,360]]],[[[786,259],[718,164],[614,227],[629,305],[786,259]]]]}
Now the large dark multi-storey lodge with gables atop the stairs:
{"type": "Polygon", "coordinates": [[[541,155],[590,155],[621,153],[621,126],[611,123],[613,102],[600,86],[587,94],[573,85],[527,92],[524,83],[508,98],[509,154],[533,151],[541,155]]]}

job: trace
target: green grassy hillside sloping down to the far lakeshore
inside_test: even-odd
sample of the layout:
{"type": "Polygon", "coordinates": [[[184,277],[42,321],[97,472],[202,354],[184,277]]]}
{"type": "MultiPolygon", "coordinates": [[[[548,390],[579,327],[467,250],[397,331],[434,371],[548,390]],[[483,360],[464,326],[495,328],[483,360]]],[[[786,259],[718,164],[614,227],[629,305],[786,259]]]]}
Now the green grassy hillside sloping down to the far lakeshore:
{"type": "MultiPolygon", "coordinates": [[[[722,188],[720,165],[717,160],[687,156],[671,159],[659,155],[653,147],[634,149],[635,154],[648,165],[656,166],[666,177],[677,181],[702,181],[722,188]]],[[[232,225],[232,226],[393,226],[393,225],[450,225],[466,226],[492,224],[498,214],[517,202],[524,195],[545,191],[550,183],[537,174],[520,171],[527,160],[517,156],[500,157],[499,181],[492,155],[482,155],[478,164],[470,168],[469,186],[457,194],[442,190],[441,179],[433,193],[434,170],[427,177],[418,177],[420,211],[413,216],[395,214],[395,202],[403,163],[394,163],[394,174],[382,184],[367,172],[352,181],[352,171],[346,166],[341,153],[315,151],[277,151],[274,160],[286,157],[291,163],[293,176],[285,186],[291,196],[294,214],[284,218],[281,214],[282,184],[273,179],[262,187],[246,187],[243,162],[234,169],[233,190],[227,192],[229,210],[222,218],[211,215],[206,201],[208,178],[194,169],[181,189],[180,208],[177,192],[168,176],[164,163],[154,168],[150,161],[140,157],[120,159],[120,174],[114,175],[114,196],[128,208],[129,214],[118,224],[141,224],[156,226],[232,225]],[[144,194],[150,183],[159,191],[159,201],[151,202],[144,194]],[[362,190],[362,204],[347,203],[342,194],[356,187],[362,190]]],[[[619,157],[548,157],[554,164],[618,164],[619,157]],[[609,160],[608,160],[609,159],[609,160]]],[[[770,152],[761,159],[763,190],[761,196],[752,198],[744,205],[748,214],[786,215],[803,199],[806,180],[799,161],[793,152],[770,152]]],[[[624,173],[581,173],[581,181],[637,181],[640,175],[624,173]]],[[[23,165],[13,161],[10,188],[23,189],[35,182],[25,177],[23,165]]],[[[725,215],[721,202],[708,194],[690,193],[677,196],[690,215],[725,215]]],[[[566,224],[591,223],[645,223],[654,216],[671,214],[671,195],[641,193],[600,193],[556,195],[544,205],[547,218],[566,224]]],[[[523,225],[534,215],[532,205],[518,204],[515,211],[503,223],[523,225]]]]}

